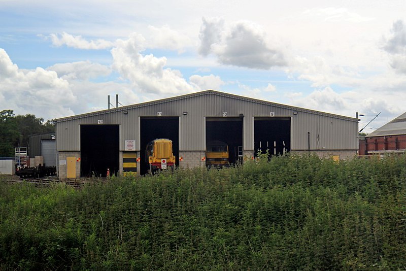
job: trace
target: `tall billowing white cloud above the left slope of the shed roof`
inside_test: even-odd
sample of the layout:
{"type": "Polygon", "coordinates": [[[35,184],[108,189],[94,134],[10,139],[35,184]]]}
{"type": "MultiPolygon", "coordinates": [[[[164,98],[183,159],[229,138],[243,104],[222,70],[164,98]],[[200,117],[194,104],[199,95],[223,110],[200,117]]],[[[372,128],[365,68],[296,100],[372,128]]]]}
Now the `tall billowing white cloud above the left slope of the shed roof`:
{"type": "Polygon", "coordinates": [[[127,40],[117,40],[117,46],[111,50],[113,69],[141,92],[179,94],[193,91],[179,71],[164,68],[165,57],[142,55],[140,40],[144,39],[135,34],[127,40]]]}

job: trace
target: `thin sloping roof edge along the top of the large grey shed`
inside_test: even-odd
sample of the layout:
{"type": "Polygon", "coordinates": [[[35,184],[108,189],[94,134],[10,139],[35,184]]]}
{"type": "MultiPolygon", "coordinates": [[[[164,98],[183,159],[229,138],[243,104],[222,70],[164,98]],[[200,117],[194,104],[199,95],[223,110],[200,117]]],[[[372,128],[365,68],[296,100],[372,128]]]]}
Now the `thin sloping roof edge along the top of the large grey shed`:
{"type": "Polygon", "coordinates": [[[288,106],[288,105],[282,105],[282,104],[272,103],[270,101],[254,99],[254,98],[250,98],[250,97],[244,97],[244,96],[239,96],[239,95],[235,95],[235,94],[215,91],[215,90],[205,90],[205,91],[185,94],[185,95],[181,95],[181,96],[147,101],[146,103],[141,103],[141,104],[123,106],[123,107],[119,107],[119,108],[113,108],[113,109],[101,110],[101,111],[85,113],[85,114],[80,114],[80,115],[75,115],[75,116],[70,116],[70,117],[64,117],[64,118],[56,119],[56,121],[57,122],[69,121],[69,120],[74,120],[74,119],[86,118],[86,117],[90,117],[90,116],[97,116],[97,115],[106,114],[106,113],[110,113],[110,112],[126,111],[129,109],[147,107],[147,106],[151,106],[151,105],[168,103],[168,102],[175,101],[175,100],[193,98],[193,97],[203,96],[203,95],[218,95],[218,96],[223,96],[223,97],[228,97],[228,98],[233,98],[233,99],[251,101],[252,103],[257,103],[257,104],[262,104],[262,105],[269,105],[269,106],[273,106],[273,107],[295,110],[298,112],[311,113],[311,114],[333,117],[333,118],[338,118],[338,119],[345,119],[345,120],[349,120],[349,121],[358,121],[358,119],[356,119],[356,118],[351,118],[351,117],[346,117],[346,116],[341,116],[341,115],[336,115],[336,114],[330,114],[330,113],[325,113],[325,112],[310,110],[310,109],[305,109],[305,108],[293,107],[293,106],[288,106]]]}

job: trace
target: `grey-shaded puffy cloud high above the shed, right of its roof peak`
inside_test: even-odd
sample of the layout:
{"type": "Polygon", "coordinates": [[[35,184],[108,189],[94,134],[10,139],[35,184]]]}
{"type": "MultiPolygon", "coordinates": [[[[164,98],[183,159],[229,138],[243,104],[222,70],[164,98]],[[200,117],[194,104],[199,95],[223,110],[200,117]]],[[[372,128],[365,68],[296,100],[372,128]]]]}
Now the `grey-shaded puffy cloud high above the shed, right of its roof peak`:
{"type": "Polygon", "coordinates": [[[266,33],[257,24],[239,21],[224,26],[218,18],[203,18],[200,27],[201,55],[214,53],[222,64],[268,70],[286,64],[281,50],[271,48],[266,33]]]}

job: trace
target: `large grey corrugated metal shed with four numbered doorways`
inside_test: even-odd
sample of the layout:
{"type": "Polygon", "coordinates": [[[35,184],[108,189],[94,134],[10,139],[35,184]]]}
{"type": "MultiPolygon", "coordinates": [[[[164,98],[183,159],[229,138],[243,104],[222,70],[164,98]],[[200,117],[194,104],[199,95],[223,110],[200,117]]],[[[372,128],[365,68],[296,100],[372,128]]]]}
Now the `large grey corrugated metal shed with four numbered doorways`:
{"type": "Polygon", "coordinates": [[[357,154],[357,134],[356,118],[208,90],[58,119],[58,173],[105,176],[100,166],[122,173],[123,155],[133,153],[143,174],[144,149],[155,138],[174,142],[179,166],[204,165],[207,140],[227,142],[230,162],[252,158],[258,149],[345,159],[357,154]]]}

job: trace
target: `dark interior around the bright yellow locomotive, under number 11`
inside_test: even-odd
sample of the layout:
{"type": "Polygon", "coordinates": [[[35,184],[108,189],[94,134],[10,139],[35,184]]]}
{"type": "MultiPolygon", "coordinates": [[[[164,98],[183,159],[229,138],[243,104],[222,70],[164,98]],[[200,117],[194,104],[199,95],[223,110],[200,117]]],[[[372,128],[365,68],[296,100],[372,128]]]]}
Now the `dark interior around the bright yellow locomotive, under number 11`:
{"type": "Polygon", "coordinates": [[[140,174],[145,175],[149,171],[146,147],[154,139],[172,140],[172,149],[176,157],[175,164],[179,166],[179,117],[142,117],[140,126],[140,174]]]}

